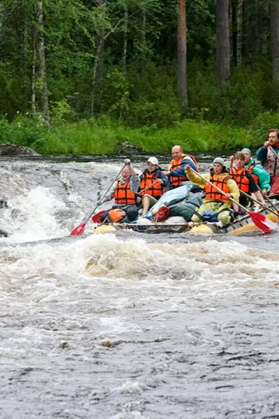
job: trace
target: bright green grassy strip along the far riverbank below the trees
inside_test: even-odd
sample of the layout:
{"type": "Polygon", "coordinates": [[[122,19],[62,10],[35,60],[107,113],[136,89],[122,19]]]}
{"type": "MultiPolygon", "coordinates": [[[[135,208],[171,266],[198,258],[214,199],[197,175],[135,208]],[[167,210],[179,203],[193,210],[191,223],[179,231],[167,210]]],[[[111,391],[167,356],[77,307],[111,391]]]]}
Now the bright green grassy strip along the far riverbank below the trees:
{"type": "Polygon", "coordinates": [[[184,119],[172,128],[130,128],[106,117],[47,125],[19,116],[11,123],[0,120],[0,143],[24,145],[40,154],[116,154],[125,152],[122,142],[152,154],[167,153],[176,144],[189,152],[220,153],[243,147],[255,149],[273,119],[274,115],[268,114],[264,123],[256,120],[250,128],[193,119],[184,119]]]}

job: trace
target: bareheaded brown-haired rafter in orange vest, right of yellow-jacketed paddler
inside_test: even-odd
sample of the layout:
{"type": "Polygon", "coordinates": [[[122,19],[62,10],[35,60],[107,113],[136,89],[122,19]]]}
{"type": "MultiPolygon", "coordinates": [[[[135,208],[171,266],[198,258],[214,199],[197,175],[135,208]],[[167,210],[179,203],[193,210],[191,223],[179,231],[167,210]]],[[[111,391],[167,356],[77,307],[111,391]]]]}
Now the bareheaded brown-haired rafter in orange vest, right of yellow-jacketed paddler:
{"type": "MultiPolygon", "coordinates": [[[[231,165],[233,164],[233,166],[229,168],[229,176],[234,179],[240,192],[245,192],[248,195],[254,193],[256,198],[262,203],[262,206],[266,207],[262,192],[259,191],[252,174],[244,166],[244,154],[242,152],[236,152],[234,156],[230,156],[229,160],[231,161],[231,165]]],[[[239,203],[246,207],[249,203],[249,198],[244,196],[244,194],[241,194],[239,203]]],[[[236,204],[234,204],[234,210],[238,211],[236,204]]]]}

